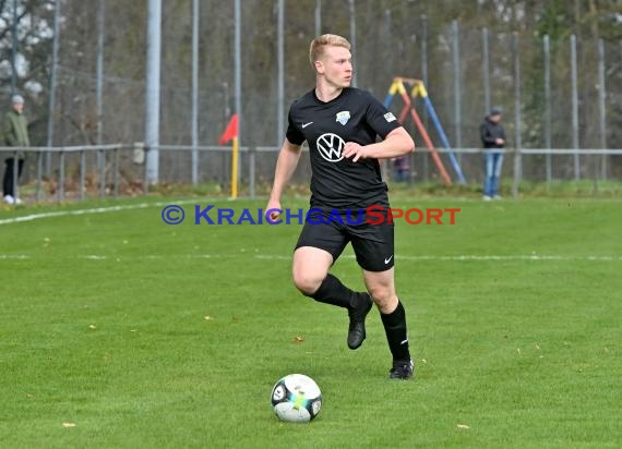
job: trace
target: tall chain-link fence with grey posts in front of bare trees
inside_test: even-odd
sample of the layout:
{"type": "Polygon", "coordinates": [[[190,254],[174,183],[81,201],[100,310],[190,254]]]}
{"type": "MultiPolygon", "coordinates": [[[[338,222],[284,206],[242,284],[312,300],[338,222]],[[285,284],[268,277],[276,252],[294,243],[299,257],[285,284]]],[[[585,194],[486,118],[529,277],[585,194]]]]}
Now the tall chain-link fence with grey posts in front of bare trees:
{"type": "MultiPolygon", "coordinates": [[[[120,142],[132,147],[135,142],[143,142],[146,12],[137,14],[136,8],[115,0],[98,0],[97,8],[95,2],[94,8],[77,8],[73,0],[60,1],[59,5],[64,13],[57,41],[51,145],[120,142]],[[119,33],[130,28],[140,28],[141,33],[119,33]]],[[[190,183],[191,153],[167,147],[192,144],[192,8],[187,1],[166,1],[163,8],[159,181],[190,183]]],[[[450,144],[458,149],[458,160],[469,183],[480,182],[482,163],[480,155],[466,149],[480,145],[478,129],[491,106],[505,111],[503,123],[510,150],[583,149],[584,154],[551,156],[545,149],[529,154],[522,158],[521,179],[605,180],[622,175],[622,157],[615,151],[586,154],[586,148],[620,146],[621,43],[574,36],[552,39],[538,36],[533,29],[500,33],[464,28],[458,22],[434,28],[424,11],[411,1],[244,0],[238,24],[232,1],[201,1],[199,145],[217,144],[234,112],[235,72],[239,70],[241,144],[249,148],[274,147],[272,151],[258,151],[254,165],[254,181],[270,181],[276,150],[284,138],[287,109],[313,86],[308,47],[318,29],[356,36],[352,44],[357,85],[378,98],[386,95],[396,75],[424,82],[450,144]],[[283,29],[277,21],[279,8],[284,8],[283,29]],[[235,66],[234,58],[236,26],[242,31],[240,68],[235,66]],[[283,53],[278,48],[279,35],[283,53]],[[280,71],[279,54],[285,61],[280,71]]],[[[441,146],[421,102],[416,101],[415,106],[434,144],[441,146]]],[[[399,101],[394,101],[392,109],[397,112],[399,108],[399,101]]],[[[421,136],[410,122],[405,126],[420,149],[410,157],[408,180],[436,180],[436,169],[421,136]]],[[[250,181],[250,154],[241,155],[242,183],[250,181]]],[[[82,163],[71,157],[63,161],[69,167],[67,179],[77,175],[75,167],[82,163]]],[[[95,151],[85,157],[86,178],[100,185],[100,156],[95,151]]],[[[441,158],[453,174],[445,155],[441,158]]],[[[122,153],[118,163],[120,182],[142,182],[142,171],[137,174],[131,151],[122,153]]],[[[198,165],[200,183],[230,183],[227,148],[200,151],[198,165]]],[[[44,157],[44,178],[58,179],[59,167],[58,153],[44,157]]],[[[505,171],[512,169],[506,159],[505,171]]],[[[26,178],[34,180],[36,170],[37,162],[31,160],[26,178]]],[[[309,172],[303,158],[297,180],[307,181],[309,172]]],[[[390,165],[385,172],[391,175],[390,165]]]]}

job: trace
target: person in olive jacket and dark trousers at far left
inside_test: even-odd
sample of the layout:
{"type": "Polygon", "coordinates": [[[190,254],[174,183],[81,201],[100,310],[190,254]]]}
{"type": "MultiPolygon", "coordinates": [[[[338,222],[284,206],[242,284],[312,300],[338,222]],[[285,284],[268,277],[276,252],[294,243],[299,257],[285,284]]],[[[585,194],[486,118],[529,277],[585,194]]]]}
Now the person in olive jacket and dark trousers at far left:
{"type": "Polygon", "coordinates": [[[2,182],[4,203],[22,204],[22,199],[17,196],[17,192],[14,191],[14,186],[24,168],[25,154],[22,148],[31,146],[31,139],[28,137],[28,121],[24,116],[24,97],[21,95],[13,95],[11,98],[11,109],[4,116],[2,137],[4,146],[15,147],[16,149],[16,153],[12,153],[11,157],[4,159],[4,179],[2,182]],[[17,158],[16,161],[15,157],[17,158]]]}

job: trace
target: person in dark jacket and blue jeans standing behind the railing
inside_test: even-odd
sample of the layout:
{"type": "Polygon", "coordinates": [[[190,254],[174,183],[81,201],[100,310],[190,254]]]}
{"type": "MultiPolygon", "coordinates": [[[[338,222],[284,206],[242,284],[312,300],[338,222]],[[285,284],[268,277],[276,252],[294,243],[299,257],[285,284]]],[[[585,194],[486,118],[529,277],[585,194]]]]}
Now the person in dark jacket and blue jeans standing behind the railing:
{"type": "Polygon", "coordinates": [[[499,178],[503,163],[505,130],[501,124],[503,111],[492,108],[479,128],[483,144],[483,199],[501,199],[499,195],[499,178]]]}

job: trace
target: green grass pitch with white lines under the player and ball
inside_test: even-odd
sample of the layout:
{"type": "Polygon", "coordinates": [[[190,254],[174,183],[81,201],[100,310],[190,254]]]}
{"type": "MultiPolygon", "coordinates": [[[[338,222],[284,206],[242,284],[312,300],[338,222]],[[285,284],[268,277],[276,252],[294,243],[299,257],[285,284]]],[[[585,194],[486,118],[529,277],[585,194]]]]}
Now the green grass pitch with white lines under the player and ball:
{"type": "MultiPolygon", "coordinates": [[[[299,226],[194,226],[192,204],[264,207],[205,198],[167,226],[167,203],[0,211],[0,447],[621,446],[620,199],[393,198],[462,209],[396,227],[411,381],[378,311],[349,351],[346,313],[295,290],[299,226]],[[290,373],[322,389],[309,425],[272,412],[290,373]]],[[[351,250],[333,272],[362,288],[351,250]]]]}

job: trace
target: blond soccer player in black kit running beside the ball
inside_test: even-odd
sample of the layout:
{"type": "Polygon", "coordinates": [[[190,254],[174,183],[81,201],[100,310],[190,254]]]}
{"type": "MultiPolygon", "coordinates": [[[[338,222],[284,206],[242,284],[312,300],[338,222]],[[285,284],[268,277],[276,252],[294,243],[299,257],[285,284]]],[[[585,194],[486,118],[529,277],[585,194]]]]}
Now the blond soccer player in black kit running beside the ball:
{"type": "MultiPolygon", "coordinates": [[[[408,379],[414,363],[406,314],[395,293],[393,222],[369,223],[367,208],[388,208],[379,159],[409,154],[415,143],[371,94],[350,87],[352,60],[345,38],[331,34],[315,38],[309,59],[315,88],[291,105],[266,210],[282,210],[280,195],[307,141],[311,209],[294,252],[294,283],[302,294],[348,311],[347,343],[352,350],[366,338],[364,320],[375,303],[393,355],[390,377],[408,379]],[[376,136],[382,142],[376,143],[376,136]],[[335,219],[334,213],[343,219],[335,219]],[[367,292],[350,290],[328,272],[348,243],[362,269],[367,292]]],[[[278,213],[271,213],[271,219],[277,217],[278,213]]]]}

